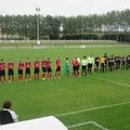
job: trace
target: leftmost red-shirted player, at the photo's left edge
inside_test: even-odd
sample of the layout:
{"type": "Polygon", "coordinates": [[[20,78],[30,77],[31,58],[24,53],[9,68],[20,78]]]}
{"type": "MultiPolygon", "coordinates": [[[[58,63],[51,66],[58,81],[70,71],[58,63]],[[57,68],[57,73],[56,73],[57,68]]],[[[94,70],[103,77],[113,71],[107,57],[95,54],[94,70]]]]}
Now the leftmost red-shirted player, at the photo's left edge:
{"type": "Polygon", "coordinates": [[[2,77],[3,81],[5,81],[5,63],[3,62],[3,58],[1,58],[0,62],[0,83],[2,82],[2,77]]]}

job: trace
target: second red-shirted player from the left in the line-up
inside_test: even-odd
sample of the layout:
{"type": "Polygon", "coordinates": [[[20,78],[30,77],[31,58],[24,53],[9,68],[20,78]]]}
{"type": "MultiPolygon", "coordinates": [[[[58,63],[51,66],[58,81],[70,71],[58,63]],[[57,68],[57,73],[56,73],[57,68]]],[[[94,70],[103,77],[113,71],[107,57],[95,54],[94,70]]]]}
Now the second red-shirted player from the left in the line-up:
{"type": "Polygon", "coordinates": [[[14,81],[14,63],[10,60],[10,62],[8,63],[8,74],[9,74],[9,82],[11,82],[11,80],[14,81]]]}

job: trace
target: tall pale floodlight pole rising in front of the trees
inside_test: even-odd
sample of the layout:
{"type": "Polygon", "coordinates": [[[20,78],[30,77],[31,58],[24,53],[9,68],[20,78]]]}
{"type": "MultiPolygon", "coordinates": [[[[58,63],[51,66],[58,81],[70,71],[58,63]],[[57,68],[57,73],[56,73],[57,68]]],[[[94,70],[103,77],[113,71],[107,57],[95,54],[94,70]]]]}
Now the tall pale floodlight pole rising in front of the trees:
{"type": "Polygon", "coordinates": [[[36,12],[37,12],[37,44],[40,44],[40,39],[39,39],[39,34],[40,34],[40,29],[39,29],[39,12],[40,12],[40,8],[36,8],[36,12]]]}

